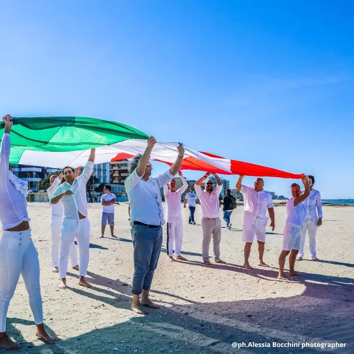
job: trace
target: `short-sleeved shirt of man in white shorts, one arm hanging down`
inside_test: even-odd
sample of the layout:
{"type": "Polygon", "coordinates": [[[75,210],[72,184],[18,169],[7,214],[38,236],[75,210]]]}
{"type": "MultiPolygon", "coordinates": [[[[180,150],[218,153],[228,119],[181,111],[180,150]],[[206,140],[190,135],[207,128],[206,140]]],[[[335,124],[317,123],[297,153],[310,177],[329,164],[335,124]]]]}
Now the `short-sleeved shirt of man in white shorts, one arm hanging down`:
{"type": "Polygon", "coordinates": [[[241,193],[243,194],[243,220],[255,222],[256,218],[268,221],[266,217],[267,208],[274,207],[271,194],[265,190],[256,192],[251,186],[241,185],[241,193]]]}

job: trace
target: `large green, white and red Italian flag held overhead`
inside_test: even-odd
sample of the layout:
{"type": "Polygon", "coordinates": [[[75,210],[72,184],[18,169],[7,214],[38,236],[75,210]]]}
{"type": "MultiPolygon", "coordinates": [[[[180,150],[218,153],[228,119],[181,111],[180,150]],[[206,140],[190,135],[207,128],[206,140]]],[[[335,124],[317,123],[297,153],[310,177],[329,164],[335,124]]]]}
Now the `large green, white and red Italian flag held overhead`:
{"type": "MultiPolygon", "coordinates": [[[[10,163],[52,168],[84,166],[89,150],[96,148],[95,163],[119,161],[142,154],[148,135],[129,125],[85,117],[13,118],[10,163]]],[[[0,123],[0,138],[4,123],[0,123]]],[[[157,141],[151,160],[172,165],[178,143],[157,141]]],[[[274,168],[229,160],[184,146],[182,170],[210,171],[224,175],[301,178],[274,168]]]]}

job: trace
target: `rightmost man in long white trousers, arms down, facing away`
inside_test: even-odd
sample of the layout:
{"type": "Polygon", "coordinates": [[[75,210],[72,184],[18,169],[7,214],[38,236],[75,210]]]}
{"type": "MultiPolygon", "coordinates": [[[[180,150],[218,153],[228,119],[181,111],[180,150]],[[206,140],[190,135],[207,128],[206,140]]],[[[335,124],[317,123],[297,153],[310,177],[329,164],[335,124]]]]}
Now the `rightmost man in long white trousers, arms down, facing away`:
{"type": "Polygon", "coordinates": [[[313,188],[313,185],[315,184],[315,177],[309,175],[309,182],[311,192],[304,202],[306,207],[306,218],[302,225],[301,248],[298,253],[297,260],[301,261],[303,259],[307,231],[309,237],[308,246],[310,257],[313,261],[319,262],[320,260],[316,256],[316,232],[317,228],[322,225],[322,199],[320,192],[313,188]]]}

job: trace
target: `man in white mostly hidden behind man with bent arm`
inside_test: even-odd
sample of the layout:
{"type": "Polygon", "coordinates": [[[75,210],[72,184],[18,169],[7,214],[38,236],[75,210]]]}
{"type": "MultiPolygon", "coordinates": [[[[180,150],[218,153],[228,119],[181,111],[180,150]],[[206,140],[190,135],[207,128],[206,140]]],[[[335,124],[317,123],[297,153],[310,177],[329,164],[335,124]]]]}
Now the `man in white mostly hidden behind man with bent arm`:
{"type": "MultiPolygon", "coordinates": [[[[76,171],[78,173],[78,171],[76,171]]],[[[64,175],[62,173],[57,175],[52,175],[49,179],[51,186],[47,189],[48,199],[50,200],[53,197],[54,191],[59,187],[64,175]]],[[[59,201],[57,204],[49,203],[52,208],[52,223],[51,223],[51,232],[52,232],[52,248],[51,248],[51,258],[52,258],[52,272],[59,272],[59,244],[60,244],[60,227],[63,215],[63,206],[62,202],[59,201]]],[[[70,262],[71,266],[75,270],[79,270],[78,258],[76,253],[75,243],[72,243],[70,247],[70,262]]]]}

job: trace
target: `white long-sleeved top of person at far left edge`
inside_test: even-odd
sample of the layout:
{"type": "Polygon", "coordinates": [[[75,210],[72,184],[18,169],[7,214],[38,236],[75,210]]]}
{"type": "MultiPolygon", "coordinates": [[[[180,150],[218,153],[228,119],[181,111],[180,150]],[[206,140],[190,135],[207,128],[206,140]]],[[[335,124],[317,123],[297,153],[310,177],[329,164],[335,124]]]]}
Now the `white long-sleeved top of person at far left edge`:
{"type": "Polygon", "coordinates": [[[10,134],[4,133],[0,149],[0,220],[2,230],[12,229],[23,221],[30,221],[27,213],[27,200],[14,187],[8,177],[10,147],[10,134]]]}

